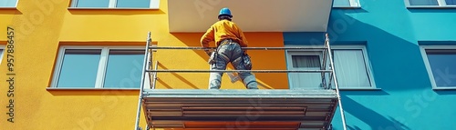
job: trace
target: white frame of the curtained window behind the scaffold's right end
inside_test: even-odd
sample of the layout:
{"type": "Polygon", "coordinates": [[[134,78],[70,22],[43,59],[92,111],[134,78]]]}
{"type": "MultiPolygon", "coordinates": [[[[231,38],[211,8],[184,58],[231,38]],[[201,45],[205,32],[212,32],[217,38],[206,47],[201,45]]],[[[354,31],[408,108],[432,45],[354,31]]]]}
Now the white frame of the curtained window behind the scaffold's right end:
{"type": "MultiPolygon", "coordinates": [[[[319,48],[321,47],[321,45],[286,45],[287,47],[310,47],[310,48],[319,48]]],[[[368,59],[368,52],[367,52],[367,49],[366,49],[366,45],[331,45],[331,50],[334,51],[334,50],[361,50],[362,53],[363,53],[363,57],[364,57],[364,64],[366,66],[366,71],[368,73],[368,79],[369,79],[369,82],[370,82],[370,85],[371,86],[358,86],[358,87],[341,87],[339,85],[339,89],[341,90],[378,90],[379,88],[377,88],[376,84],[375,84],[375,78],[374,78],[374,73],[372,71],[372,66],[370,64],[370,61],[368,59]]],[[[307,50],[287,50],[285,51],[285,55],[286,55],[286,67],[289,69],[291,66],[290,65],[293,65],[293,61],[291,59],[291,54],[290,52],[293,52],[295,54],[299,54],[299,55],[309,55],[309,54],[315,54],[315,53],[312,53],[312,52],[318,52],[319,56],[320,56],[320,60],[321,60],[321,63],[323,63],[323,51],[322,49],[307,49],[307,50]],[[296,52],[300,52],[300,53],[296,53],[296,52]],[[321,53],[320,53],[321,52],[321,53]],[[302,53],[302,54],[301,54],[302,53]]],[[[317,54],[315,54],[317,55],[317,54]]],[[[334,54],[333,54],[334,55],[334,54]]],[[[326,57],[328,60],[329,60],[329,57],[326,57]]],[[[334,56],[333,56],[334,58],[334,56]]],[[[329,63],[326,63],[326,64],[329,64],[329,63]]],[[[337,69],[337,68],[336,68],[337,69]]],[[[336,70],[337,71],[337,70],[336,70]]],[[[290,89],[292,89],[294,86],[292,86],[291,84],[291,77],[290,75],[288,75],[288,82],[290,85],[290,89]]],[[[334,84],[334,80],[333,80],[333,84],[334,84]]],[[[335,89],[335,88],[333,88],[335,89]]]]}

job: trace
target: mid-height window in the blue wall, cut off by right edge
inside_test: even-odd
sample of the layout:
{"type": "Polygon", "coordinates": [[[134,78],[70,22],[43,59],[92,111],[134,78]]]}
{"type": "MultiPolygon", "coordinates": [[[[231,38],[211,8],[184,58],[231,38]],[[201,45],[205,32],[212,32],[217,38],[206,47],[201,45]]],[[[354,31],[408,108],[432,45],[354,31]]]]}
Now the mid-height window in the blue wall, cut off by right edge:
{"type": "Polygon", "coordinates": [[[421,54],[436,89],[456,89],[456,46],[421,46],[421,54]]]}

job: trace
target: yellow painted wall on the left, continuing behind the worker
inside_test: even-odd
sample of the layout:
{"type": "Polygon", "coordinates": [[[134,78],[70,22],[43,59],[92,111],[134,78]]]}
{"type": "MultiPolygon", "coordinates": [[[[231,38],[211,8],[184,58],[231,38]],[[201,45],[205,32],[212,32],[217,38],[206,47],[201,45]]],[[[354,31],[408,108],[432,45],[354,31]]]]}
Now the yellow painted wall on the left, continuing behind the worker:
{"type": "MultiPolygon", "coordinates": [[[[132,129],[137,90],[47,90],[59,45],[139,45],[150,31],[159,46],[199,46],[201,33],[170,34],[167,1],[160,10],[71,10],[69,0],[19,0],[16,10],[0,9],[0,27],[15,28],[15,123],[6,121],[7,64],[0,65],[0,129],[132,129]]],[[[5,29],[2,29],[5,31],[5,29]]],[[[5,45],[5,33],[0,44],[5,45]]],[[[283,46],[282,33],[246,33],[251,46],[283,46]]],[[[285,69],[284,51],[250,51],[254,69],[285,69]]],[[[160,68],[208,69],[202,51],[158,50],[160,68]]],[[[233,68],[233,67],[232,67],[233,68]]],[[[261,89],[288,88],[285,74],[255,74],[261,89]]],[[[209,74],[158,75],[159,89],[206,89],[209,74]]],[[[245,89],[223,76],[223,89],[245,89]]],[[[140,125],[145,125],[141,117],[140,125]]]]}

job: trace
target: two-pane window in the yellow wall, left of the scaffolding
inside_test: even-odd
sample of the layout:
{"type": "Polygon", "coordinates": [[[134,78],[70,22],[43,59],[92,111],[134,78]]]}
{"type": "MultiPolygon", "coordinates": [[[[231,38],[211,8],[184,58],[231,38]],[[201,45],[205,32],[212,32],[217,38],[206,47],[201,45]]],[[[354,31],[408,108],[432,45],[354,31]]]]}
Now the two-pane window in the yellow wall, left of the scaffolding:
{"type": "Polygon", "coordinates": [[[144,49],[62,47],[53,87],[140,88],[144,49]]]}

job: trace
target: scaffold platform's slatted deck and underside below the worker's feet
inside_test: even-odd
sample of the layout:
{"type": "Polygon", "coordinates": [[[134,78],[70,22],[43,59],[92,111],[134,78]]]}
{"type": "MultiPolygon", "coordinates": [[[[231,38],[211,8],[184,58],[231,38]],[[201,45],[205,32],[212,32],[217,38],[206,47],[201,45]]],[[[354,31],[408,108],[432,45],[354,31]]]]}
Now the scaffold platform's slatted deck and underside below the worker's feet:
{"type": "Polygon", "coordinates": [[[145,90],[148,125],[185,129],[326,129],[334,90],[145,90]]]}

